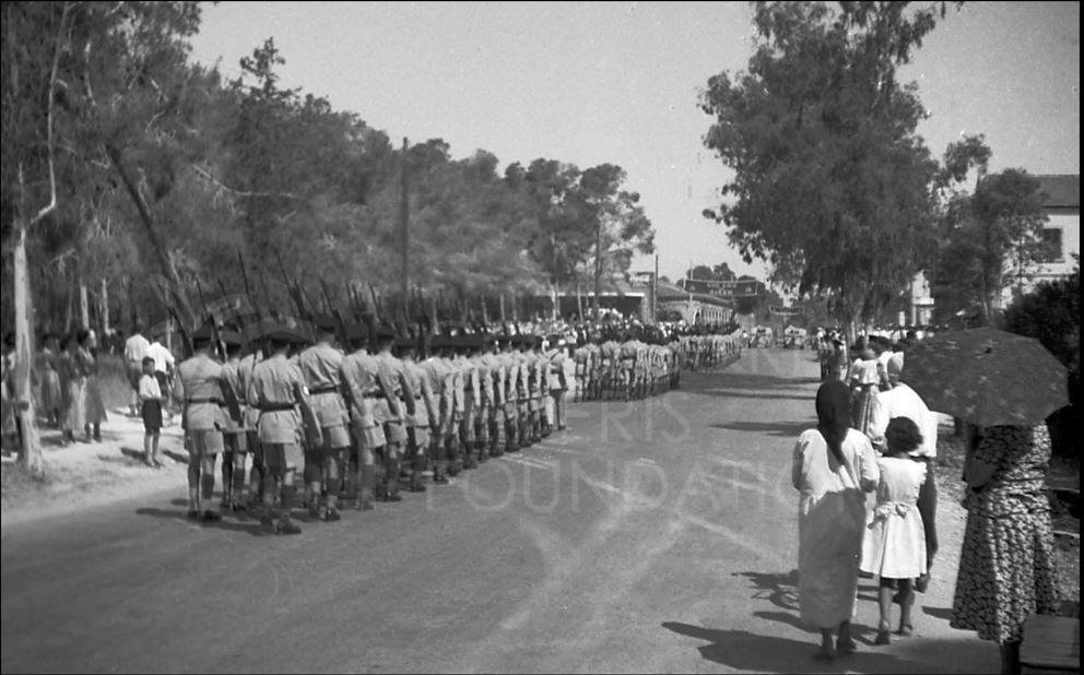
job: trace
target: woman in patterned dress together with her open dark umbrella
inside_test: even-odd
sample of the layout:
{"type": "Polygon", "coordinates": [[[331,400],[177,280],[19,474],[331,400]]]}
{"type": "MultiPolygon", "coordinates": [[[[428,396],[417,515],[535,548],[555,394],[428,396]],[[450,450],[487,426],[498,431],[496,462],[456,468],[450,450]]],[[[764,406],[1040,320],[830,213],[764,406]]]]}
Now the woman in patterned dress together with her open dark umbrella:
{"type": "Polygon", "coordinates": [[[1020,673],[1025,620],[1056,609],[1044,421],[1069,402],[1065,368],[1037,340],[980,328],[916,345],[902,379],[931,410],[962,417],[971,430],[950,625],[998,642],[1001,672],[1020,673]]]}

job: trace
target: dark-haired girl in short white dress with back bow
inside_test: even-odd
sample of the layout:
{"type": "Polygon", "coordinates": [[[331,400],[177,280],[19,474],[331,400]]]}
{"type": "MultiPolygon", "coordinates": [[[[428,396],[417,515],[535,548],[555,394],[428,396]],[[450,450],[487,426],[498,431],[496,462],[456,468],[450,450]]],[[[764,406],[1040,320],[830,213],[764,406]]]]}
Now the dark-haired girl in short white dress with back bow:
{"type": "Polygon", "coordinates": [[[875,644],[891,642],[894,594],[899,597],[896,632],[911,633],[912,580],[926,573],[926,534],[918,495],[926,482],[927,465],[909,454],[921,445],[922,436],[910,418],[893,417],[885,430],[885,454],[877,461],[881,473],[877,502],[862,541],[861,569],[881,578],[877,589],[881,623],[875,644]]]}

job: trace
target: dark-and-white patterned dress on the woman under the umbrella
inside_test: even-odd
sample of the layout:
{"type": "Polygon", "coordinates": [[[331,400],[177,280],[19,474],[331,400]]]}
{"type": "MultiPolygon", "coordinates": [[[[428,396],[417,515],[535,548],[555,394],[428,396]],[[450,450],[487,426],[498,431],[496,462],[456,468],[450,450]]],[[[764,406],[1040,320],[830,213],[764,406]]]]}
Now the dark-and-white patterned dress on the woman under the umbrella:
{"type": "Polygon", "coordinates": [[[1056,608],[1050,504],[1042,492],[1050,436],[1045,425],[988,427],[975,458],[995,471],[967,496],[950,625],[977,630],[983,640],[1018,641],[1028,615],[1056,608]]]}

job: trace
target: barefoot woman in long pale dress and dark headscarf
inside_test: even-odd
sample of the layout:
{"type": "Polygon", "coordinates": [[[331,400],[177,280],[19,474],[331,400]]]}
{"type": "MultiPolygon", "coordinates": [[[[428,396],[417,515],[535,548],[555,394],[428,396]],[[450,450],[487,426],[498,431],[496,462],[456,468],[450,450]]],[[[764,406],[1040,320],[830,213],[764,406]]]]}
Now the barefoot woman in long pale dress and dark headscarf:
{"type": "Polygon", "coordinates": [[[828,381],[816,393],[817,426],[798,437],[792,479],[801,492],[798,520],[798,597],[802,620],[821,630],[814,658],[856,649],[850,619],[865,529],[865,493],[880,477],[873,447],[850,428],[850,390],[828,381]],[[833,631],[837,632],[835,644],[833,631]]]}

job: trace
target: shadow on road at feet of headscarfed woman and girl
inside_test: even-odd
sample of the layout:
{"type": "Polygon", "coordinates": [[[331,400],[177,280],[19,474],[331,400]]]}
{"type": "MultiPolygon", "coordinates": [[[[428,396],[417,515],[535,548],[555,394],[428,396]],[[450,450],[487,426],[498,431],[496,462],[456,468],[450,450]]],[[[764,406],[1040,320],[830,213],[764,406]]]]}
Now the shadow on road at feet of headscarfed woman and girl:
{"type": "MultiPolygon", "coordinates": [[[[922,663],[872,650],[843,655],[834,662],[824,663],[813,660],[817,639],[800,642],[788,638],[758,636],[747,630],[717,630],[679,621],[663,621],[662,627],[709,642],[697,648],[706,661],[743,673],[940,673],[943,668],[938,663],[922,663]]],[[[941,643],[928,647],[932,648],[930,653],[943,653],[947,646],[941,643]]]]}

